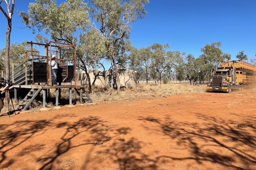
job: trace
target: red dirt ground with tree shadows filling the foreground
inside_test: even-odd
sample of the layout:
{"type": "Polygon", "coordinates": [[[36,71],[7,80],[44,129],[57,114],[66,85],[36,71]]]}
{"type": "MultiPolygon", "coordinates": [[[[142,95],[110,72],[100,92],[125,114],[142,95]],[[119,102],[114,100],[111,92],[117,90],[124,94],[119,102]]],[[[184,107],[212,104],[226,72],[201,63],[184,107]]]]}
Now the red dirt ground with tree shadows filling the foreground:
{"type": "Polygon", "coordinates": [[[0,117],[4,170],[253,170],[256,93],[98,103],[0,117]]]}

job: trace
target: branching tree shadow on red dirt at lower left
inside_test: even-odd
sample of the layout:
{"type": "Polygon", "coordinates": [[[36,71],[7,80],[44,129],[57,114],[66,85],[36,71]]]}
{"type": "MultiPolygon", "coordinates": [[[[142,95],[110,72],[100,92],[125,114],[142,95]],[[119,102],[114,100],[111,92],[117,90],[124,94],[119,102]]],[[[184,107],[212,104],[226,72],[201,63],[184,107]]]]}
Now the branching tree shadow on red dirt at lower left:
{"type": "MultiPolygon", "coordinates": [[[[31,140],[31,138],[34,137],[34,135],[39,136],[40,134],[46,133],[48,127],[53,127],[56,129],[65,128],[67,131],[61,137],[62,142],[57,144],[55,152],[53,152],[52,154],[46,154],[44,157],[41,157],[40,159],[37,160],[39,162],[46,162],[40,169],[54,169],[52,163],[56,160],[58,156],[69,151],[70,149],[78,147],[73,146],[71,140],[84,130],[88,131],[96,127],[98,125],[97,122],[100,122],[97,117],[87,117],[73,123],[59,122],[56,124],[53,123],[52,120],[26,120],[14,122],[13,124],[2,124],[1,128],[8,129],[8,131],[2,130],[0,132],[0,150],[2,150],[0,153],[0,169],[8,168],[9,166],[12,165],[12,163],[14,163],[13,158],[7,159],[7,151],[15,150],[15,148],[19,147],[23,143],[26,143],[26,141],[31,140]],[[20,129],[17,130],[17,126],[19,126],[20,129]]],[[[91,144],[94,143],[82,143],[81,145],[91,144]]],[[[31,148],[24,148],[22,151],[20,151],[19,155],[31,154],[35,149],[37,149],[38,151],[42,150],[42,147],[42,145],[38,146],[35,143],[34,146],[31,148]]]]}

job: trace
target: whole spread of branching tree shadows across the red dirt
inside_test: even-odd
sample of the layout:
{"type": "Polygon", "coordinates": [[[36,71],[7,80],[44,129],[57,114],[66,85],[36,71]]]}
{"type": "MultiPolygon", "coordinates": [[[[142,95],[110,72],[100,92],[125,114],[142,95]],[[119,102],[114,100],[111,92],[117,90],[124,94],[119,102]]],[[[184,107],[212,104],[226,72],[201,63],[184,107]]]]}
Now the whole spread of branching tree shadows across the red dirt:
{"type": "MultiPolygon", "coordinates": [[[[31,140],[35,135],[39,136],[40,134],[47,133],[47,130],[49,130],[48,127],[52,129],[64,129],[65,133],[60,137],[61,142],[56,143],[56,147],[52,153],[37,158],[37,162],[42,164],[39,168],[41,170],[56,169],[55,162],[58,161],[58,157],[70,150],[78,149],[80,146],[94,148],[105,142],[108,142],[110,146],[107,149],[100,150],[100,153],[97,154],[108,155],[108,159],[118,165],[119,169],[161,169],[160,165],[162,163],[176,160],[194,160],[198,165],[203,165],[204,162],[209,161],[231,169],[245,169],[234,164],[236,161],[234,157],[239,158],[244,166],[248,166],[246,168],[247,170],[252,170],[250,168],[252,165],[255,167],[256,158],[250,154],[256,150],[256,135],[253,127],[248,126],[247,128],[252,129],[250,129],[248,135],[244,135],[248,129],[229,125],[235,122],[229,122],[227,124],[225,120],[217,120],[214,117],[201,114],[197,114],[197,116],[199,119],[207,120],[207,124],[202,127],[196,122],[175,122],[170,116],[166,116],[165,119],[148,116],[138,119],[138,122],[145,122],[141,127],[144,130],[151,130],[149,123],[152,123],[159,127],[158,130],[154,129],[154,132],[157,131],[157,133],[162,134],[169,141],[174,140],[175,143],[173,145],[178,146],[182,144],[183,146],[187,146],[183,149],[188,150],[188,154],[178,156],[166,156],[160,153],[146,154],[142,150],[144,143],[140,138],[124,137],[132,133],[131,128],[115,125],[105,126],[104,124],[106,122],[99,119],[99,117],[88,116],[77,119],[75,122],[59,121],[54,123],[53,120],[48,119],[2,124],[1,128],[3,130],[0,132],[0,169],[8,168],[15,162],[14,158],[7,158],[7,151],[15,150],[15,148],[31,140]],[[20,128],[17,130],[17,127],[20,128]],[[75,140],[78,135],[85,132],[91,133],[91,136],[95,139],[99,138],[99,140],[93,141],[85,138],[80,144],[73,145],[72,140],[75,140]],[[199,140],[203,142],[201,144],[197,143],[199,140]],[[228,141],[233,141],[233,144],[229,144],[228,141]],[[214,150],[216,148],[231,153],[231,156],[221,151],[217,152],[214,150]]],[[[66,117],[68,118],[69,116],[66,117]]],[[[150,147],[149,144],[148,147],[150,147]]],[[[31,154],[35,149],[40,151],[42,148],[44,148],[43,145],[34,144],[31,148],[23,148],[18,153],[18,156],[31,154]]],[[[88,155],[90,154],[88,153],[88,155]]],[[[84,162],[81,168],[88,169],[86,162],[84,162]]]]}

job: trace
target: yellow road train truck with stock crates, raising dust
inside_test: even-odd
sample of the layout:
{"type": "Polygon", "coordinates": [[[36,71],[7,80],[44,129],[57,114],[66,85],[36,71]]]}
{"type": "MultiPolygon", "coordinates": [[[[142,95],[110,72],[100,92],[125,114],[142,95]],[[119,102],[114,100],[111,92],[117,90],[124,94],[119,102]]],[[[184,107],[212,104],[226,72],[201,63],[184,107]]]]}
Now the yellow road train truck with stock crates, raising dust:
{"type": "Polygon", "coordinates": [[[207,90],[231,92],[231,89],[242,90],[256,84],[256,66],[240,60],[223,61],[216,69],[207,90]]]}

